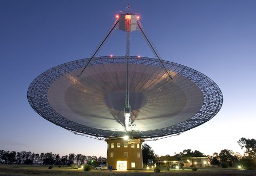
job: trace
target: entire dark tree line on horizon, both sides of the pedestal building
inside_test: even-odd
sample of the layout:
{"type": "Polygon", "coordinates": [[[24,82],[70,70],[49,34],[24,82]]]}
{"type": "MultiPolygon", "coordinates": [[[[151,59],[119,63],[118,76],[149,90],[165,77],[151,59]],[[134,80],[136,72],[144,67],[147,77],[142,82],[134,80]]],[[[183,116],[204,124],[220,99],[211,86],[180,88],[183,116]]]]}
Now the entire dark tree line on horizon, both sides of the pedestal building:
{"type": "MultiPolygon", "coordinates": [[[[244,149],[244,155],[235,153],[229,149],[222,149],[220,153],[213,153],[207,155],[211,161],[211,165],[218,165],[222,167],[236,167],[243,165],[244,169],[256,169],[256,140],[241,138],[237,141],[238,145],[244,149]]],[[[192,151],[185,149],[182,152],[173,156],[165,155],[158,156],[154,150],[147,144],[142,146],[143,163],[147,164],[148,159],[157,161],[180,161],[182,157],[202,157],[206,156],[198,150],[192,151]]],[[[43,164],[43,165],[71,165],[71,164],[93,164],[106,163],[105,157],[85,156],[82,154],[60,156],[59,154],[41,153],[35,154],[31,152],[10,152],[0,150],[0,164],[43,164]],[[93,163],[94,162],[94,163],[93,163]]]]}

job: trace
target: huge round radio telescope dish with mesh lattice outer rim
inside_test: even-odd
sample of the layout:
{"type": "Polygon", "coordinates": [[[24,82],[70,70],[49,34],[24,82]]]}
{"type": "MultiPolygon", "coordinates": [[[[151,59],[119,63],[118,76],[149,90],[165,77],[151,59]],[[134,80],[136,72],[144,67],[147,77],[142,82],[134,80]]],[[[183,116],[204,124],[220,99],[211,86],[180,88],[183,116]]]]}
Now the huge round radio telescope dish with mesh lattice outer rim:
{"type": "Polygon", "coordinates": [[[155,58],[130,56],[132,129],[126,131],[125,56],[94,57],[78,77],[89,60],[40,74],[28,88],[31,107],[47,121],[79,135],[158,139],[209,121],[222,106],[220,88],[204,74],[162,61],[167,74],[155,58]]]}

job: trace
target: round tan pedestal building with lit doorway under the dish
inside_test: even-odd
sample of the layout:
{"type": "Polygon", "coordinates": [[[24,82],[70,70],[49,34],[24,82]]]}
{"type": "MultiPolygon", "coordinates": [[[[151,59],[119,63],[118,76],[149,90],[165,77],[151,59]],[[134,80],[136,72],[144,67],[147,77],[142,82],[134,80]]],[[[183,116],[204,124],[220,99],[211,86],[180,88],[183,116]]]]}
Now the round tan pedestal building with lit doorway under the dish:
{"type": "Polygon", "coordinates": [[[108,143],[107,167],[113,170],[138,170],[143,169],[142,139],[111,139],[108,143]]]}

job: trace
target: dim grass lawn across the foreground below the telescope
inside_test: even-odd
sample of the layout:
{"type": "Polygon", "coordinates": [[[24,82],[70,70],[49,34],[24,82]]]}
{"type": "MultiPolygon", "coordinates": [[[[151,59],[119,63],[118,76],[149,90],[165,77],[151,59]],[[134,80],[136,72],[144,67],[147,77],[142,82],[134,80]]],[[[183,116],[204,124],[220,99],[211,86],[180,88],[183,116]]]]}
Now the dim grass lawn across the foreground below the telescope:
{"type": "MultiPolygon", "coordinates": [[[[92,169],[90,172],[85,172],[81,169],[71,169],[71,167],[53,166],[48,169],[46,165],[0,165],[0,175],[84,175],[84,176],[108,176],[110,172],[99,171],[92,169]]],[[[256,175],[256,170],[238,170],[238,169],[222,169],[222,168],[202,168],[197,171],[191,170],[161,170],[160,173],[154,173],[153,170],[139,170],[139,171],[111,171],[111,175],[123,176],[167,176],[167,175],[256,175]]]]}

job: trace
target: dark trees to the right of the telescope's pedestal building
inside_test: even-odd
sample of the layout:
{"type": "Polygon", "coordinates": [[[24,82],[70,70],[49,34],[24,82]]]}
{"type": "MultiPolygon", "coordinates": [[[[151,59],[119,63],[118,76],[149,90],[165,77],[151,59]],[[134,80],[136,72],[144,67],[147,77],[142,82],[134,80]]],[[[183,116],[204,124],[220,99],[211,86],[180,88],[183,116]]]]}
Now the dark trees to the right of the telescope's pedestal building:
{"type": "MultiPolygon", "coordinates": [[[[222,167],[237,167],[238,165],[242,165],[244,169],[256,169],[256,140],[241,138],[237,143],[242,149],[245,149],[243,156],[230,149],[222,149],[220,153],[207,155],[211,161],[211,165],[218,165],[222,167]]],[[[153,162],[180,161],[183,157],[203,157],[206,155],[198,150],[192,151],[191,149],[185,149],[178,154],[174,153],[173,156],[158,156],[149,145],[143,144],[142,156],[143,164],[147,164],[149,159],[153,160],[153,162]]]]}

